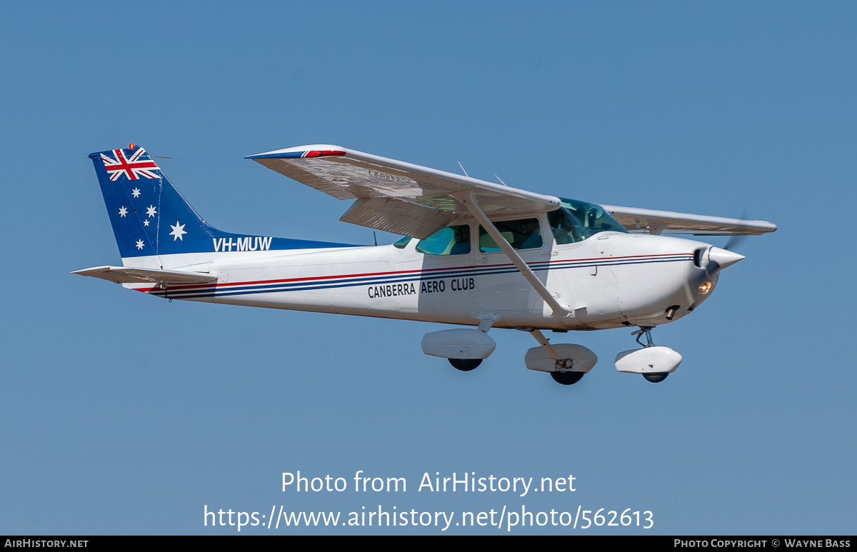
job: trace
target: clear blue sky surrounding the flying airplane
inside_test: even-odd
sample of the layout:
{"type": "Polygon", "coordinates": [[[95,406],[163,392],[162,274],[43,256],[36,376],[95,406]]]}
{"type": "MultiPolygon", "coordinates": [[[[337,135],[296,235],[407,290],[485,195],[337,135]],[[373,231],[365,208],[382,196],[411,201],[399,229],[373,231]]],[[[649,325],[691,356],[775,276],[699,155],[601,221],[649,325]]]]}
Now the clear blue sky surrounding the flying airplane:
{"type": "Polygon", "coordinates": [[[204,527],[203,506],[281,504],[581,505],[654,513],[649,531],[594,533],[853,533],[855,16],[837,2],[5,6],[0,533],[231,533],[204,527]],[[243,160],[315,142],[779,230],[741,243],[704,308],[656,330],[684,356],[662,384],[615,371],[627,330],[554,336],[601,359],[573,387],[524,369],[536,344],[512,331],[462,374],[420,350],[442,327],[167,303],[69,274],[119,262],[86,156],[132,141],[175,158],[160,165],[225,231],[371,243],[337,220],[347,202],[243,160]],[[409,489],[282,492],[298,470],[409,489]],[[578,490],[417,492],[435,471],[572,474],[578,490]]]}

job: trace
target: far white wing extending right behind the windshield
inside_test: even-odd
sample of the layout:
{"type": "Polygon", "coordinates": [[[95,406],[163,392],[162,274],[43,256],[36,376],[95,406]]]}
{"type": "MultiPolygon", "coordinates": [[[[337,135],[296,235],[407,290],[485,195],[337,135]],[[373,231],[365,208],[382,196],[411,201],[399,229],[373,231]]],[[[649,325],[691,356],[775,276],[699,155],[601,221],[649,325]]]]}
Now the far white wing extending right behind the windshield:
{"type": "Polygon", "coordinates": [[[702,214],[673,213],[637,207],[602,205],[620,225],[630,232],[650,234],[693,234],[695,236],[752,236],[776,231],[776,225],[764,220],[728,219],[702,214]]]}

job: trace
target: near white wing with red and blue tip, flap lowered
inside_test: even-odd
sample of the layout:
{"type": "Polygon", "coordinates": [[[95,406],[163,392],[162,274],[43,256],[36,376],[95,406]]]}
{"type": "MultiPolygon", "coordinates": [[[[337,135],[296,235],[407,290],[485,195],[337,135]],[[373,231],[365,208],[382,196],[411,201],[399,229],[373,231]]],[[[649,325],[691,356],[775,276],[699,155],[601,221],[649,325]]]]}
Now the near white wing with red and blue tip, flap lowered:
{"type": "Polygon", "coordinates": [[[560,199],[327,144],[249,155],[267,168],[340,200],[357,199],[339,219],[423,239],[459,216],[470,195],[488,216],[542,213],[560,199]]]}

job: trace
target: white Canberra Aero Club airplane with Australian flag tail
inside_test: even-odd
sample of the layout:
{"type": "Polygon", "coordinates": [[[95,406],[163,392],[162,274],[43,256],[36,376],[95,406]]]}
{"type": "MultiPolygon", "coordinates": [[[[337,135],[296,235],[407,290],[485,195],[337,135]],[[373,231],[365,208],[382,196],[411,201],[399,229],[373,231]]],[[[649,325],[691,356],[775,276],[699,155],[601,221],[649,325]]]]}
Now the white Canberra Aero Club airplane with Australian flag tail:
{"type": "Polygon", "coordinates": [[[423,352],[470,370],[494,351],[492,327],[531,333],[528,369],[570,385],[595,365],[543,330],[639,327],[616,369],[662,381],[681,356],[650,330],[696,309],[744,257],[662,232],[741,236],[776,230],[724,219],[596,205],[436,171],[345,147],[250,155],[340,200],[340,220],[405,236],[356,246],[219,231],[141,147],[90,153],[122,267],[75,274],[158,297],[471,326],[427,333],[423,352]],[[472,328],[472,327],[476,328],[472,328]],[[642,335],[646,343],[640,342],[642,335]]]}

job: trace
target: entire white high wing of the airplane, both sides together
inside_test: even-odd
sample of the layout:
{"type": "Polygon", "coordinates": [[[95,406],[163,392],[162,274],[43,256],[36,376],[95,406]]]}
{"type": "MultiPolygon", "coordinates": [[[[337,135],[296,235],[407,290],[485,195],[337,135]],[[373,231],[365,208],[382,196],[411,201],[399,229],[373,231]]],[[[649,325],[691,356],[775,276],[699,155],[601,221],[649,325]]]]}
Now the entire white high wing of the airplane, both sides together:
{"type": "MultiPolygon", "coordinates": [[[[247,159],[340,200],[357,200],[340,220],[423,239],[453,220],[470,218],[463,201],[476,201],[491,219],[560,207],[560,198],[437,171],[328,144],[288,147],[247,159]]],[[[651,234],[740,236],[776,225],[636,207],[603,205],[628,231],[651,234]]]]}

